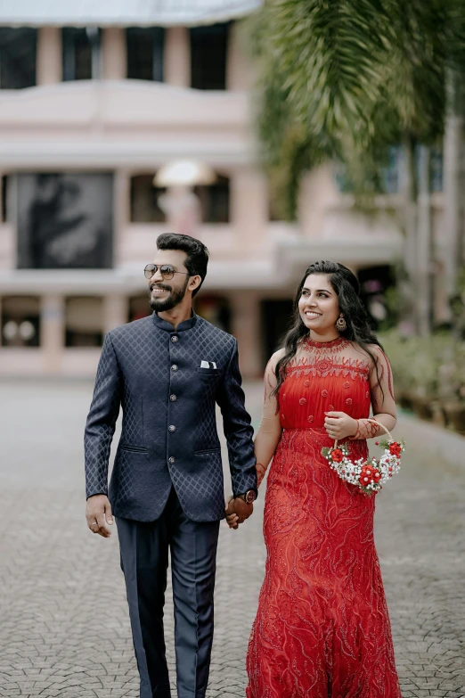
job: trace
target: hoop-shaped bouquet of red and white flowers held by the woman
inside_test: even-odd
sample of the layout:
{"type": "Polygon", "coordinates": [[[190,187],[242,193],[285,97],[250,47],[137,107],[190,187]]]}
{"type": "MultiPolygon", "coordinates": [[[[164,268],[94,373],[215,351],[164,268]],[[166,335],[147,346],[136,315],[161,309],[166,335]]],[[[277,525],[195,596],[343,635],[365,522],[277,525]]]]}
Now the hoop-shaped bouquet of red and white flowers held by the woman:
{"type": "MultiPolygon", "coordinates": [[[[382,424],[379,426],[387,431],[382,424]]],[[[330,467],[338,473],[341,480],[350,482],[366,495],[372,495],[379,492],[385,482],[400,471],[401,454],[405,450],[404,441],[395,441],[389,431],[387,431],[387,439],[376,441],[376,445],[384,450],[380,458],[359,458],[354,462],[350,459],[348,444],[338,446],[337,441],[331,448],[322,448],[322,456],[327,459],[330,467]]]]}

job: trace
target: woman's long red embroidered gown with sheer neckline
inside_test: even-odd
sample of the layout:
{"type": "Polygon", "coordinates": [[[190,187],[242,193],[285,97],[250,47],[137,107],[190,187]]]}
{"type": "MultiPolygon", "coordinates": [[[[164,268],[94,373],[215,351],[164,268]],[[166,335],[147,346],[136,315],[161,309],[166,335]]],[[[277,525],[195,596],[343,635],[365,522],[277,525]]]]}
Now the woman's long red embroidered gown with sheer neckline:
{"type": "MultiPolygon", "coordinates": [[[[281,386],[248,698],[401,696],[373,540],[375,497],[340,480],[321,454],[332,443],[326,411],[368,417],[370,373],[340,340],[313,347],[281,386]]],[[[367,456],[366,440],[349,443],[354,459],[367,456]]]]}

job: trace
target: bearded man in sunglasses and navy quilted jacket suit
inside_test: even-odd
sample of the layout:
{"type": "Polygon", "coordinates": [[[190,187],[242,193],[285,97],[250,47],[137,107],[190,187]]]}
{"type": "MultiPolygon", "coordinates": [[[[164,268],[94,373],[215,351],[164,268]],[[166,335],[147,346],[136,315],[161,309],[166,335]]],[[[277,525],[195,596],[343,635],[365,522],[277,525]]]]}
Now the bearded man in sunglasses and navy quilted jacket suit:
{"type": "Polygon", "coordinates": [[[105,337],[86,424],[87,525],[103,538],[117,519],[141,698],[170,696],[163,605],[171,554],[179,698],[203,698],[213,639],[213,590],[223,469],[216,402],[228,442],[234,498],[252,513],[257,476],[237,341],[192,311],[208,250],[162,234],[145,267],[153,315],[105,337]],[[110,442],[123,429],[107,497],[110,442]]]}

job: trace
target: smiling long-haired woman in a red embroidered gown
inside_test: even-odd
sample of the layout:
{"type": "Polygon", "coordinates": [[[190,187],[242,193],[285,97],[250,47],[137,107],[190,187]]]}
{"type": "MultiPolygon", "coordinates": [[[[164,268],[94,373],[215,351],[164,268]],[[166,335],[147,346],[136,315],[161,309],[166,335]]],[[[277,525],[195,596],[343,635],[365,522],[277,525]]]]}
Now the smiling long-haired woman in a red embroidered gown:
{"type": "MultiPolygon", "coordinates": [[[[396,425],[391,370],[347,267],[317,262],[299,284],[285,348],[265,372],[255,442],[265,499],[265,581],[247,657],[248,698],[400,698],[373,541],[375,497],[322,456],[396,425]]],[[[228,516],[232,527],[237,518],[228,516]]]]}

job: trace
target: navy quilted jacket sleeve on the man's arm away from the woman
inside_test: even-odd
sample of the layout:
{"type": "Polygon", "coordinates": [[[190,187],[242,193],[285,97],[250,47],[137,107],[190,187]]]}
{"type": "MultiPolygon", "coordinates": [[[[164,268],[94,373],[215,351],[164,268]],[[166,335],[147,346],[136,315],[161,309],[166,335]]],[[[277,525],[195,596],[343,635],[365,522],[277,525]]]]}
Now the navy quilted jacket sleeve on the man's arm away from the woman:
{"type": "Polygon", "coordinates": [[[107,334],[84,436],[87,498],[108,494],[108,461],[121,403],[121,390],[121,369],[110,334],[107,334]]]}

